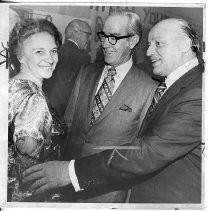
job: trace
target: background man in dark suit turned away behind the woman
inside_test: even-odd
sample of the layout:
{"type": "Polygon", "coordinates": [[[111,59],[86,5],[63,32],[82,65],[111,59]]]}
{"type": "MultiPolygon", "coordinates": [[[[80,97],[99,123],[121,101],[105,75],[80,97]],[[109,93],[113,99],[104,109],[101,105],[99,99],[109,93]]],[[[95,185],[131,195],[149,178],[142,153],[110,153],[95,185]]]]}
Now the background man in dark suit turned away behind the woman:
{"type": "Polygon", "coordinates": [[[43,83],[44,92],[61,117],[81,66],[91,62],[87,52],[91,33],[91,28],[85,21],[74,19],[67,25],[64,44],[58,50],[55,71],[43,83]]]}

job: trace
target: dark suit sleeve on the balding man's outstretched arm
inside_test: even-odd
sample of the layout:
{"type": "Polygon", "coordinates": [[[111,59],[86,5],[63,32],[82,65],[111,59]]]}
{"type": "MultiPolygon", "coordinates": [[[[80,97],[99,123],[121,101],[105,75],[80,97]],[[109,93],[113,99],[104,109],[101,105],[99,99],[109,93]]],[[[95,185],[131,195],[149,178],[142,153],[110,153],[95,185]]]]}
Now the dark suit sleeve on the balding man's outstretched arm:
{"type": "Polygon", "coordinates": [[[201,144],[201,109],[201,88],[188,90],[128,149],[107,150],[76,160],[80,187],[88,190],[120,181],[143,181],[182,159],[201,144]]]}

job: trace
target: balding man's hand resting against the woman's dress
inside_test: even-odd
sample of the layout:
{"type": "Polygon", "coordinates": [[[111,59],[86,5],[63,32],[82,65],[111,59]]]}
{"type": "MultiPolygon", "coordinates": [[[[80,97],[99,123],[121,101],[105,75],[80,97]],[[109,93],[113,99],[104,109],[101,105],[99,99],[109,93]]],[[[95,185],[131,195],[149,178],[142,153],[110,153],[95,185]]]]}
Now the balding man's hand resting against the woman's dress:
{"type": "Polygon", "coordinates": [[[29,191],[34,194],[63,187],[71,183],[69,161],[49,161],[34,165],[23,172],[23,183],[32,182],[29,191]]]}

